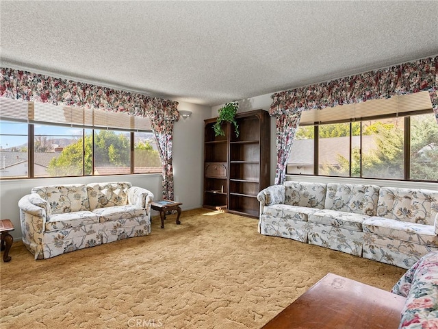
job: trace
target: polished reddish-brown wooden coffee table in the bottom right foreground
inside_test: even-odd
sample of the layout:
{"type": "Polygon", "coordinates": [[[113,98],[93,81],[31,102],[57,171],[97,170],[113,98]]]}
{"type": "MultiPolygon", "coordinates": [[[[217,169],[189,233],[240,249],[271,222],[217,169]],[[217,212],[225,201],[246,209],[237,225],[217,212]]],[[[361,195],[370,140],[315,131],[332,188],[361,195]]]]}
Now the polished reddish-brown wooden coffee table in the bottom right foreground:
{"type": "Polygon", "coordinates": [[[397,329],[405,297],[329,273],[262,329],[397,329]]]}

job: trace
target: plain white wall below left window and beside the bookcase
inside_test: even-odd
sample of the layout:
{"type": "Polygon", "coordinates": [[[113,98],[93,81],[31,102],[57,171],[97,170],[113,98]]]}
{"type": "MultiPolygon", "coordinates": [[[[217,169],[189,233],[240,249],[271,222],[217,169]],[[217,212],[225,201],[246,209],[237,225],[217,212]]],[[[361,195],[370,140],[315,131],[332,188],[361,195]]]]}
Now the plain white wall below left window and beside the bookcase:
{"type": "MultiPolygon", "coordinates": [[[[180,118],[175,123],[173,135],[173,169],[175,197],[182,202],[181,208],[189,210],[202,206],[203,190],[203,157],[204,157],[204,119],[210,117],[211,108],[191,103],[180,102],[178,110],[190,110],[192,116],[180,118]]],[[[0,181],[0,218],[10,219],[15,230],[11,232],[14,240],[21,239],[21,225],[18,211],[18,200],[30,192],[34,186],[51,184],[74,184],[90,182],[131,182],[134,186],[147,188],[162,199],[162,175],[112,175],[73,178],[39,178],[32,180],[0,181]]],[[[156,215],[157,212],[153,212],[156,215]]],[[[183,217],[181,217],[183,221],[183,217]]]]}

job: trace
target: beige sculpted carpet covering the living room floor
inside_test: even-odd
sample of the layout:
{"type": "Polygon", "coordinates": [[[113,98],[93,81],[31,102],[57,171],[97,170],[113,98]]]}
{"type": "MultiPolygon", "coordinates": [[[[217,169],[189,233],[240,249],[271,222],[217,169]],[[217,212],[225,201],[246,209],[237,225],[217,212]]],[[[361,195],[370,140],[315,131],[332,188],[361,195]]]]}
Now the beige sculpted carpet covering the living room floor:
{"type": "MultiPolygon", "coordinates": [[[[260,328],[326,273],[389,290],[404,269],[257,233],[197,209],[149,236],[1,261],[0,328],[260,328]]],[[[3,256],[3,255],[2,255],[3,256]]]]}

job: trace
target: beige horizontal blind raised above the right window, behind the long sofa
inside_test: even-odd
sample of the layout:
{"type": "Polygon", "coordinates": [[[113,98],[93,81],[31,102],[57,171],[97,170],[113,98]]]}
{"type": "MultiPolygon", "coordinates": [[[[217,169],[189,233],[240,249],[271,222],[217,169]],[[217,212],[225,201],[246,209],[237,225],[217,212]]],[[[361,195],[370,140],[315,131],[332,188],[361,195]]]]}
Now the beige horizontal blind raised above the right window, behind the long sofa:
{"type": "Polygon", "coordinates": [[[432,112],[432,103],[427,91],[409,95],[394,95],[389,99],[372,99],[322,110],[304,111],[301,125],[329,123],[335,121],[360,121],[361,119],[379,117],[387,114],[403,114],[420,110],[432,112]]]}

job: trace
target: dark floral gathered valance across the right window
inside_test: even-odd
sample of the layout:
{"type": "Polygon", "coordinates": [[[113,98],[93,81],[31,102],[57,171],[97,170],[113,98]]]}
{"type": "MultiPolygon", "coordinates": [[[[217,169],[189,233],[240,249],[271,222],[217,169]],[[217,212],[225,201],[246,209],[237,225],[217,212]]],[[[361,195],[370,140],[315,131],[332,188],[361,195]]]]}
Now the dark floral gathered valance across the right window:
{"type": "Polygon", "coordinates": [[[438,58],[426,58],[272,95],[270,114],[312,110],[428,91],[438,121],[438,58]]]}

